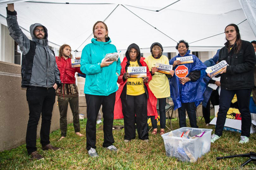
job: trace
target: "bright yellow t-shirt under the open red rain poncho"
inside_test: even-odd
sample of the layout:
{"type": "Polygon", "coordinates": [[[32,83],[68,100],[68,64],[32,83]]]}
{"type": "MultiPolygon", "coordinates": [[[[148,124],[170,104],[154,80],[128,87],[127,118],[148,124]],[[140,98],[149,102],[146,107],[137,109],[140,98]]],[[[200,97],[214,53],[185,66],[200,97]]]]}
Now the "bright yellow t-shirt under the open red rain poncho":
{"type": "MultiPolygon", "coordinates": [[[[139,67],[137,60],[134,62],[130,61],[129,67],[139,67]]],[[[126,93],[131,96],[138,96],[145,93],[142,78],[128,78],[126,82],[126,87],[126,93]]]]}

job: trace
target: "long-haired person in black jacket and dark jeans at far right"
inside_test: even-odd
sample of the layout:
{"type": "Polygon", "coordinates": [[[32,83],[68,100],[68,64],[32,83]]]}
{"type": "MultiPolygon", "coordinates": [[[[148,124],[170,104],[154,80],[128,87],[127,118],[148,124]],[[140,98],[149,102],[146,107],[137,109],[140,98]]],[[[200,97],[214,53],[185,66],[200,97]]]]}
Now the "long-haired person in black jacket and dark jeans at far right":
{"type": "Polygon", "coordinates": [[[251,128],[251,114],[249,100],[254,87],[253,71],[256,58],[253,45],[241,40],[238,26],[229,24],[225,28],[225,47],[220,50],[219,62],[226,60],[228,65],[221,72],[220,108],[217,116],[215,134],[211,142],[214,143],[222,135],[227,111],[234,95],[237,96],[239,111],[242,117],[241,140],[239,143],[249,142],[251,128]]]}

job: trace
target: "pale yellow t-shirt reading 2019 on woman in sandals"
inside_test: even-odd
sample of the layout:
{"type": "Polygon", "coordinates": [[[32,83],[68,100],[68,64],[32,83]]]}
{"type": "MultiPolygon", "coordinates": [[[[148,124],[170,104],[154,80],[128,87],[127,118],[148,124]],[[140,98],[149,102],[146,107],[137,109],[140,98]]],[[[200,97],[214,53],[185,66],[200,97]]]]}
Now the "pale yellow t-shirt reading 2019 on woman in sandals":
{"type": "MultiPolygon", "coordinates": [[[[155,59],[152,55],[149,55],[144,59],[151,71],[152,67],[156,66],[156,63],[168,64],[169,60],[165,55],[162,55],[159,59],[155,59]]],[[[154,93],[156,98],[165,98],[170,96],[170,85],[168,78],[165,74],[155,72],[152,76],[152,80],[149,82],[149,88],[154,93]]]]}

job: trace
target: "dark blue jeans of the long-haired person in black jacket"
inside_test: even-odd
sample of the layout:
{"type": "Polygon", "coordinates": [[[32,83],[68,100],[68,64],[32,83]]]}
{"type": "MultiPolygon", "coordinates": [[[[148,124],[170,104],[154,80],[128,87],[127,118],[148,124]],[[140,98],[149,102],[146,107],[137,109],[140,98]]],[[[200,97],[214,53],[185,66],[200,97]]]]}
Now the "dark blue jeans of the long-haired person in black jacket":
{"type": "Polygon", "coordinates": [[[222,136],[224,124],[226,122],[227,112],[230,107],[231,100],[236,94],[239,111],[242,117],[241,136],[250,137],[250,129],[252,124],[252,117],[249,109],[250,95],[252,89],[241,90],[225,90],[221,89],[220,93],[220,108],[217,116],[215,134],[222,136]]]}

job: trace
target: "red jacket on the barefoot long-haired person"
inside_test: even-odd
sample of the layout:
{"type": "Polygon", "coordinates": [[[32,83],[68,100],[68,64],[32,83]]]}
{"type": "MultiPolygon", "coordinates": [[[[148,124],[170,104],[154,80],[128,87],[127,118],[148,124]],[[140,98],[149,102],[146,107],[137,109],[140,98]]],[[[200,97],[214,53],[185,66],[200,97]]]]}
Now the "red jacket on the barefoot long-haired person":
{"type": "Polygon", "coordinates": [[[75,73],[81,73],[80,67],[71,67],[71,59],[64,59],[64,57],[55,56],[56,63],[60,73],[60,81],[66,84],[75,84],[76,77],[75,73]]]}

